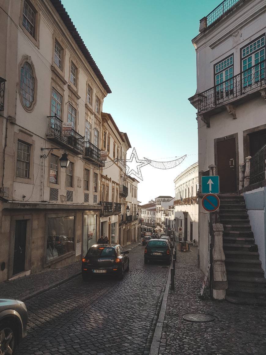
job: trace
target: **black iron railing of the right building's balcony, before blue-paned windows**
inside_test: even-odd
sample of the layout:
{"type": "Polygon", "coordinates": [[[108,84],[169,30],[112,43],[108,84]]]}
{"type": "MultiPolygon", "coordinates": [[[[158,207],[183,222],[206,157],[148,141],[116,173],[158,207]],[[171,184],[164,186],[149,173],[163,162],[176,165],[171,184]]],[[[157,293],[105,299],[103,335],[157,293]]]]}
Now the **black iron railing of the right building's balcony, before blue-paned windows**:
{"type": "Polygon", "coordinates": [[[249,69],[200,93],[198,112],[207,111],[265,85],[265,64],[266,60],[262,60],[249,69]]]}

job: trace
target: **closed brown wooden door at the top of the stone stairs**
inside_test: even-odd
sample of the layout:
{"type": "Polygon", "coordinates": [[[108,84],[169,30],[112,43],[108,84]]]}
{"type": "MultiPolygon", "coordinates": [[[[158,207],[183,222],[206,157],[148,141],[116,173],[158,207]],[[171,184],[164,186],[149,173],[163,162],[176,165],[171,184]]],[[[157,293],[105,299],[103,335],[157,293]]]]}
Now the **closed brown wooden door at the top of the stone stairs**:
{"type": "Polygon", "coordinates": [[[217,142],[217,175],[220,192],[237,191],[235,138],[217,142]]]}

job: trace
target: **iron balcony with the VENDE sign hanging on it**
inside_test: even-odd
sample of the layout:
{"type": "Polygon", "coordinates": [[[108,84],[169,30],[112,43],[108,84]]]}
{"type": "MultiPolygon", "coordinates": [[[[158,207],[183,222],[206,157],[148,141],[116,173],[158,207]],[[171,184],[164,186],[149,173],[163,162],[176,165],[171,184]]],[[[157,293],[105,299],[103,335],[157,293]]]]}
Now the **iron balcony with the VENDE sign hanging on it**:
{"type": "Polygon", "coordinates": [[[50,141],[56,142],[73,153],[83,154],[84,137],[73,130],[73,128],[70,131],[70,135],[65,136],[62,131],[63,121],[61,121],[57,116],[48,116],[48,120],[47,138],[50,141]]]}

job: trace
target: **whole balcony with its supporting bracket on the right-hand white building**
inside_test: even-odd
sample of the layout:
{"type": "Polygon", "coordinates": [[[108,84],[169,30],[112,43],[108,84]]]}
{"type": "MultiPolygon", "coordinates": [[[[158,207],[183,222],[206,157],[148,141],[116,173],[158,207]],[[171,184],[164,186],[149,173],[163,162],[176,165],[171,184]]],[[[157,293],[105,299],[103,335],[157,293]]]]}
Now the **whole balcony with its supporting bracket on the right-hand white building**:
{"type": "MultiPolygon", "coordinates": [[[[229,104],[239,104],[255,95],[266,95],[265,79],[266,60],[253,65],[247,70],[226,81],[198,94],[198,113],[215,114],[226,109],[229,104]]],[[[228,109],[228,112],[234,113],[228,109]]],[[[236,118],[236,117],[234,117],[236,118]]]]}

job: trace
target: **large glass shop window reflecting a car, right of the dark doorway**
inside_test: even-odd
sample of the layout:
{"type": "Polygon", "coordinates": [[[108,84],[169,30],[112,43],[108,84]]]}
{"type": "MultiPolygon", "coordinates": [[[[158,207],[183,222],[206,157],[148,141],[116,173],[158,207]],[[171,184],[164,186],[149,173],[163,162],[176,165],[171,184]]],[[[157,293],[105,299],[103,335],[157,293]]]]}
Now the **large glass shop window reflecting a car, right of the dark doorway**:
{"type": "Polygon", "coordinates": [[[46,261],[74,250],[75,217],[48,218],[46,261]]]}

